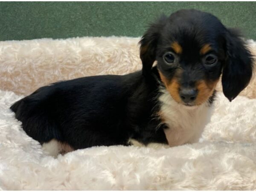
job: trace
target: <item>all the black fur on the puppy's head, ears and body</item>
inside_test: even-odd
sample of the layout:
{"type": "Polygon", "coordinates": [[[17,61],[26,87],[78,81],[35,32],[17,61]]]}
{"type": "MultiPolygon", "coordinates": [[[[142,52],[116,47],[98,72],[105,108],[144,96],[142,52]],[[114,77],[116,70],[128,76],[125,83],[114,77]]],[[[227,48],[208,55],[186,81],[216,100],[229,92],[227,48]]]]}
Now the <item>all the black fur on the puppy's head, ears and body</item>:
{"type": "MultiPolygon", "coordinates": [[[[167,79],[183,69],[182,87],[199,80],[216,80],[223,69],[225,96],[234,99],[246,87],[252,74],[252,58],[239,35],[226,29],[211,14],[181,10],[162,16],[151,24],[140,41],[142,71],[124,76],[91,76],[61,81],[41,87],[12,105],[26,133],[40,143],[56,139],[74,149],[95,145],[128,145],[133,138],[145,145],[167,143],[158,116],[158,71],[167,79]],[[173,51],[172,42],[183,48],[176,66],[163,62],[163,54],[173,51]],[[215,67],[202,64],[200,48],[210,44],[218,56],[215,67]],[[157,66],[153,67],[157,60],[157,66]]],[[[209,103],[214,100],[215,92],[209,103]]],[[[182,118],[182,117],[181,117],[182,118]]]]}

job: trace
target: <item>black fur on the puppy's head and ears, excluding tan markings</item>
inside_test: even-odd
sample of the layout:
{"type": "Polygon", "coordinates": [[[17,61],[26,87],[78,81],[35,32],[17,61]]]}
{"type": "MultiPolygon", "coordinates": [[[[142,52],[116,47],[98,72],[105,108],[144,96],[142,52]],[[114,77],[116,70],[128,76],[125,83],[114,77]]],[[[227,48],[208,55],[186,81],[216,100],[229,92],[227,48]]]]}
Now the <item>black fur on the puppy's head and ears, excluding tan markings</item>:
{"type": "Polygon", "coordinates": [[[185,70],[180,79],[184,87],[193,87],[200,79],[215,81],[223,70],[223,92],[230,101],[247,86],[252,76],[253,58],[239,32],[227,29],[217,17],[206,12],[189,9],[175,12],[169,18],[162,16],[150,26],[140,43],[144,76],[148,76],[155,60],[167,79],[173,78],[177,68],[185,70]],[[163,62],[163,54],[173,51],[170,45],[174,41],[179,42],[183,52],[178,65],[168,66],[163,62]],[[202,65],[199,51],[204,44],[210,44],[210,53],[218,56],[214,67],[202,65]]]}

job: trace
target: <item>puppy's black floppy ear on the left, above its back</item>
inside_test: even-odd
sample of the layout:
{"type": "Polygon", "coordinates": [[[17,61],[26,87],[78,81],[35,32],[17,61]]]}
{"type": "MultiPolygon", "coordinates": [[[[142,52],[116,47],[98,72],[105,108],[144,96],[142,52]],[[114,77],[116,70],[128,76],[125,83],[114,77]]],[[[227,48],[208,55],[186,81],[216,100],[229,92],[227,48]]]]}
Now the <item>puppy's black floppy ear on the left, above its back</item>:
{"type": "Polygon", "coordinates": [[[157,41],[166,20],[167,17],[162,15],[157,22],[150,25],[140,40],[140,59],[143,65],[142,73],[144,76],[150,74],[153,63],[156,60],[157,41]]]}

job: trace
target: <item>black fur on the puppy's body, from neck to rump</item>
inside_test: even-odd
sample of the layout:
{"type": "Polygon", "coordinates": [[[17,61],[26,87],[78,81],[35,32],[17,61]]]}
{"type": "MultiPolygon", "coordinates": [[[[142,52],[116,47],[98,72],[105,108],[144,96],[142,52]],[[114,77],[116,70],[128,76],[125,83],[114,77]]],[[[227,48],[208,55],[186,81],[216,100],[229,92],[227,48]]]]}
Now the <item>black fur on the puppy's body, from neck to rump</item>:
{"type": "Polygon", "coordinates": [[[12,105],[26,133],[40,143],[57,139],[73,148],[166,143],[156,129],[157,82],[147,84],[141,72],[93,76],[41,87],[12,105]],[[152,109],[154,110],[152,111],[152,109]]]}

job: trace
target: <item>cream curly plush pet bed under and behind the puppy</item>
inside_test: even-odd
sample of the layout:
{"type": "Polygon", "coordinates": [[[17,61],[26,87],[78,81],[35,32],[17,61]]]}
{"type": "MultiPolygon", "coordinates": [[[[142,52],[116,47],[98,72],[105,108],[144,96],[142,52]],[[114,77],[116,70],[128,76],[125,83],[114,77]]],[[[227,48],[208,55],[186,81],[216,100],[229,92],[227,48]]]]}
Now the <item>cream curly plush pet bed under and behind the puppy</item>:
{"type": "MultiPolygon", "coordinates": [[[[217,94],[199,143],[93,147],[57,158],[21,128],[10,105],[38,87],[141,68],[139,38],[0,42],[0,189],[256,190],[256,77],[233,102],[217,94]]],[[[256,55],[256,43],[248,41],[256,55]]],[[[221,90],[221,85],[218,85],[221,90]]]]}

